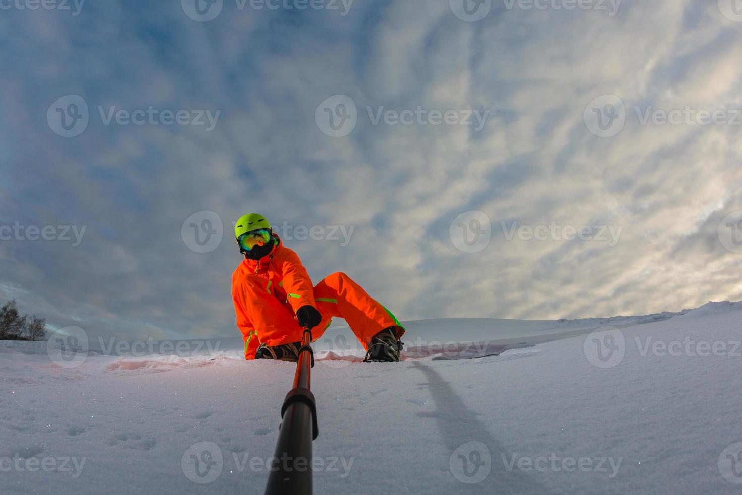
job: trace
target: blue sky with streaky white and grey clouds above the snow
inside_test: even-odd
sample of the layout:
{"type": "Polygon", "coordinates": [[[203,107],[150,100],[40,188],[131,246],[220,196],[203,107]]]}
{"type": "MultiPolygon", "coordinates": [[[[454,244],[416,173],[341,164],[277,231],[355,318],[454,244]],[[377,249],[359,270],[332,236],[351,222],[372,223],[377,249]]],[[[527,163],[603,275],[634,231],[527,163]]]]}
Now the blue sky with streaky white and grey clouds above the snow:
{"type": "Polygon", "coordinates": [[[247,212],[401,320],[741,300],[740,3],[0,0],[0,301],[239,335],[247,212]]]}

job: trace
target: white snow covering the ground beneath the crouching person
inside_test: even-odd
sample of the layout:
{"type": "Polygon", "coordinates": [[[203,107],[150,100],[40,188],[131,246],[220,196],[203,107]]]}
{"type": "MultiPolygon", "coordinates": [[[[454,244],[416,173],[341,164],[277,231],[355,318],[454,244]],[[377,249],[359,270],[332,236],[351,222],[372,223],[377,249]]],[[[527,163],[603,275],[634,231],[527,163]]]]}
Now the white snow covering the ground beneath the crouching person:
{"type": "MultiPolygon", "coordinates": [[[[738,494],[741,323],[739,303],[413,321],[388,364],[359,362],[332,328],[312,371],[315,493],[738,494]],[[453,359],[480,347],[502,353],[453,359]]],[[[208,342],[116,355],[91,341],[70,368],[54,346],[1,342],[0,493],[262,493],[295,365],[208,342]],[[214,459],[203,477],[196,458],[214,459]]]]}

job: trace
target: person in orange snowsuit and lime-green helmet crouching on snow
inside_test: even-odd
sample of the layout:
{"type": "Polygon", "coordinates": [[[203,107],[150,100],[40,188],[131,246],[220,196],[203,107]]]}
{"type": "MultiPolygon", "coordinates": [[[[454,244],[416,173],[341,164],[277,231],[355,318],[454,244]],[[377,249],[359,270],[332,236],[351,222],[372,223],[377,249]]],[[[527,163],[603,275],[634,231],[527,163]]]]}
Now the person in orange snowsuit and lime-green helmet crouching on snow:
{"type": "Polygon", "coordinates": [[[348,275],[333,273],[313,286],[261,214],[240,217],[234,238],[245,255],[232,274],[232,299],[246,359],[298,361],[303,329],[318,329],[317,340],[337,317],[367,350],[364,361],[400,360],[404,327],[348,275]]]}

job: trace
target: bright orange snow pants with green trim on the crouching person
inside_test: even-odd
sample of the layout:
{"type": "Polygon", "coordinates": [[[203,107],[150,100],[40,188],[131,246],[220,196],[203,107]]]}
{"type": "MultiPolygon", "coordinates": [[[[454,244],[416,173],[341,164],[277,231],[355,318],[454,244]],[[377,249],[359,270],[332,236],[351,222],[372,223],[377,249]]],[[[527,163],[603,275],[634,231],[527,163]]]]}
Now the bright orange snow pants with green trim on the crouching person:
{"type": "MultiPolygon", "coordinates": [[[[365,349],[372,336],[385,328],[397,327],[398,338],[404,335],[397,318],[344,273],[333,273],[315,285],[314,296],[322,315],[321,323],[312,329],[314,341],[321,338],[334,317],[346,321],[365,349]]],[[[255,358],[260,344],[275,347],[301,341],[303,329],[291,305],[266,289],[265,278],[247,275],[237,283],[235,298],[255,329],[254,335],[245,335],[245,358],[255,358]]]]}

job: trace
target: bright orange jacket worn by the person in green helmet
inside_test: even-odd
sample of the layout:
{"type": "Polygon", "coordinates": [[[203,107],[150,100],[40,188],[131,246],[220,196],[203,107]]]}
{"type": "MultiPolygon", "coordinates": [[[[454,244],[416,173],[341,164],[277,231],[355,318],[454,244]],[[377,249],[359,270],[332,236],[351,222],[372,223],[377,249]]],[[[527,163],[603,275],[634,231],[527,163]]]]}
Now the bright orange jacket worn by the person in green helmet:
{"type": "Polygon", "coordinates": [[[243,335],[243,341],[248,341],[255,335],[255,326],[247,316],[245,308],[240,304],[235,287],[246,277],[257,276],[266,281],[266,291],[275,295],[294,315],[301,306],[315,302],[312,279],[306,272],[298,255],[291,249],[283,246],[280,237],[273,234],[275,247],[260,260],[243,260],[232,273],[232,300],[234,312],[237,315],[237,327],[243,335]]]}

